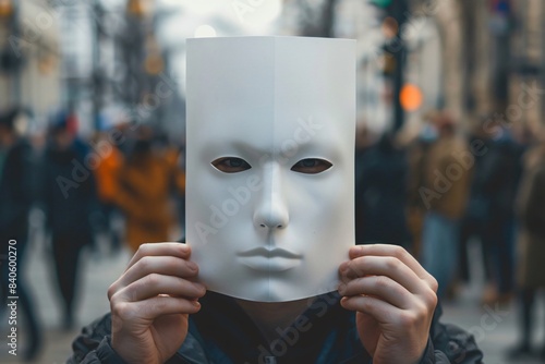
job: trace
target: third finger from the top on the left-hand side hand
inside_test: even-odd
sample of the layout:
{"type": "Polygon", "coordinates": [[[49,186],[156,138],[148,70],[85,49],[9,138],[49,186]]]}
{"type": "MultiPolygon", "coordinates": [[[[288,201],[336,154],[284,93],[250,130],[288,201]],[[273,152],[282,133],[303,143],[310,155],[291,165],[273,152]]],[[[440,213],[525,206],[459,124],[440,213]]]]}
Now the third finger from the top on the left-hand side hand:
{"type": "Polygon", "coordinates": [[[144,301],[159,294],[198,299],[205,293],[205,287],[198,282],[192,282],[179,277],[150,274],[116,292],[112,295],[112,300],[116,298],[121,301],[136,302],[144,301]]]}

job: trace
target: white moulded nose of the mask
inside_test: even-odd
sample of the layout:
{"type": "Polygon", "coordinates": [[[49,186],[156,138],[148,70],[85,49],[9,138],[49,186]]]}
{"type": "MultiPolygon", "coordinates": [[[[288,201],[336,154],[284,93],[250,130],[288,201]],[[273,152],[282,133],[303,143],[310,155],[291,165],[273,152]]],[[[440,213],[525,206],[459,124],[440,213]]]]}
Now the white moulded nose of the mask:
{"type": "Polygon", "coordinates": [[[254,225],[262,230],[286,229],[289,223],[288,206],[282,193],[279,166],[268,166],[263,191],[254,211],[254,225]]]}

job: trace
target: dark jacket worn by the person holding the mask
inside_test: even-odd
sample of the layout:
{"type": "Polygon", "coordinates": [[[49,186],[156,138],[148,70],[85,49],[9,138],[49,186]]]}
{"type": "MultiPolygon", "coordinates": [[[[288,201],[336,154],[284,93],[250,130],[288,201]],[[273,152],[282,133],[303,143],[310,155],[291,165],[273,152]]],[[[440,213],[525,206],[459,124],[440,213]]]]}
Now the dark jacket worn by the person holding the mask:
{"type": "MultiPolygon", "coordinates": [[[[372,363],[355,328],[355,315],[339,304],[336,292],[310,302],[301,317],[305,325],[292,326],[267,345],[263,335],[233,299],[208,292],[201,299],[202,310],[190,317],[185,341],[167,363],[268,364],[268,363],[372,363]],[[304,328],[304,329],[303,329],[304,328]]],[[[438,321],[440,307],[431,329],[422,364],[479,364],[482,353],[472,336],[438,321]]],[[[110,315],[85,327],[73,343],[69,364],[121,364],[124,361],[110,345],[110,315]]]]}

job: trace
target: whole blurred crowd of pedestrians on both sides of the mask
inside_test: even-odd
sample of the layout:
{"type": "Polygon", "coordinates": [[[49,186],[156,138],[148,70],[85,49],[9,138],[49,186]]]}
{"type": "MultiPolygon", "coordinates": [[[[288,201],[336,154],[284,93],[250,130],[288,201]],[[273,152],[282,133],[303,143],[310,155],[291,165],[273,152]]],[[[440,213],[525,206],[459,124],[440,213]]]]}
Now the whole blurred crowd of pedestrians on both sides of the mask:
{"type": "MultiPolygon", "coordinates": [[[[0,114],[0,238],[17,241],[23,271],[36,233],[28,216],[43,211],[62,326],[70,329],[83,251],[98,251],[98,240],[114,254],[183,238],[184,148],[130,120],[83,139],[70,111],[51,114],[44,133],[28,136],[32,118],[24,108],[0,114]]],[[[530,352],[535,295],[545,287],[543,132],[510,128],[497,116],[463,124],[433,111],[411,138],[359,129],[355,153],[356,242],[403,245],[436,277],[441,300],[472,279],[469,247],[479,243],[482,302],[520,301],[522,335],[510,354],[530,352]]],[[[1,246],[7,256],[8,244],[1,246]]],[[[5,298],[8,265],[2,269],[5,298]]],[[[24,277],[17,289],[33,359],[41,343],[36,301],[24,277]]]]}

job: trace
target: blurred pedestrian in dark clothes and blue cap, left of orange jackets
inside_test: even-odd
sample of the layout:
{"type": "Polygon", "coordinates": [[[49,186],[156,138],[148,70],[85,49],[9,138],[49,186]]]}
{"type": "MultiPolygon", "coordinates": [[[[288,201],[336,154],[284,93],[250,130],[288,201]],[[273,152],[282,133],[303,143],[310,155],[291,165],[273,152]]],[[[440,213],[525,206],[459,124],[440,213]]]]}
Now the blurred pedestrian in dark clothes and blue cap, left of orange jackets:
{"type": "Polygon", "coordinates": [[[88,145],[76,137],[75,130],[75,116],[60,112],[52,118],[43,174],[46,228],[51,234],[65,329],[74,324],[76,291],[81,290],[80,258],[83,247],[93,242],[89,216],[96,207],[90,167],[97,156],[89,154],[88,145]]]}

